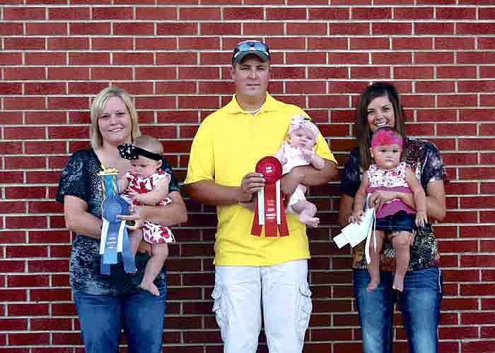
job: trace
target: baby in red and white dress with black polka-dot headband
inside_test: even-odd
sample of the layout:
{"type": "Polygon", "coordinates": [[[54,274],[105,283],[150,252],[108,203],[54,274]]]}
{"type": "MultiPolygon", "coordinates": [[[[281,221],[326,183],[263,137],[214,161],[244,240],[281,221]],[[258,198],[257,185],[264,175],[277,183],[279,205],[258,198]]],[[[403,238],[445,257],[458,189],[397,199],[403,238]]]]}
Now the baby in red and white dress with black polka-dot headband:
{"type": "MultiPolygon", "coordinates": [[[[168,184],[170,174],[160,169],[163,156],[163,145],[156,138],[141,135],[134,140],[134,145],[125,143],[119,146],[120,155],[131,160],[131,169],[126,176],[119,179],[119,190],[122,198],[132,206],[139,205],[168,205],[168,184]]],[[[129,233],[131,248],[134,256],[141,239],[151,244],[152,256],[146,264],[141,289],[156,296],[160,295],[154,285],[163,263],[168,257],[167,243],[175,242],[168,227],[153,222],[140,221],[129,233]]]]}

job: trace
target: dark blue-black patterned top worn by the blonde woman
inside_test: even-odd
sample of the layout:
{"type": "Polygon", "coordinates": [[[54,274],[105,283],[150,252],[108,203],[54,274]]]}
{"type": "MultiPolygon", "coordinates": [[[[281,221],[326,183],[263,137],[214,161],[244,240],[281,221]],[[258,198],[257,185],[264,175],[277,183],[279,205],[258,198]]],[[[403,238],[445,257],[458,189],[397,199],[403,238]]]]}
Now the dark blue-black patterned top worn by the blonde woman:
{"type": "MultiPolygon", "coordinates": [[[[101,218],[101,162],[91,148],[80,150],[71,156],[62,171],[57,191],[57,201],[64,203],[64,196],[76,196],[88,204],[88,213],[101,218]]],[[[163,160],[162,167],[171,175],[169,191],[180,191],[177,179],[170,169],[170,164],[163,160]]],[[[119,255],[120,258],[120,255],[119,255]]],[[[88,294],[114,295],[134,292],[141,283],[148,257],[136,255],[137,272],[129,275],[124,272],[122,262],[111,266],[111,275],[100,273],[100,239],[76,234],[71,251],[71,286],[88,294]]],[[[155,280],[158,286],[165,282],[165,266],[155,280]]]]}

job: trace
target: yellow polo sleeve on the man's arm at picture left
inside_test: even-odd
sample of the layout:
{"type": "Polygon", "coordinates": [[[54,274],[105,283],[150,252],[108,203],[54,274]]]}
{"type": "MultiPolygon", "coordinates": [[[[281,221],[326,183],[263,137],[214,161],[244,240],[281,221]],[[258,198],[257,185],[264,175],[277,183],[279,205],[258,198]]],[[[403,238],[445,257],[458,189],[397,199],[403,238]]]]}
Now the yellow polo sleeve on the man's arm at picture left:
{"type": "Polygon", "coordinates": [[[192,141],[187,176],[184,184],[193,184],[197,181],[214,181],[214,131],[211,130],[210,117],[199,126],[192,141]]]}

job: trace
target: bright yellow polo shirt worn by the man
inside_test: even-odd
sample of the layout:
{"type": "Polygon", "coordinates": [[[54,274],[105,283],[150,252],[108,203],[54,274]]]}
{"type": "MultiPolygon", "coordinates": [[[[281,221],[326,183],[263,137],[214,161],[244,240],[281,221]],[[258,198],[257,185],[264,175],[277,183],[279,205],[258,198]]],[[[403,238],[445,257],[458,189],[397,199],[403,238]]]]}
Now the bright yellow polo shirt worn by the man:
{"type": "MultiPolygon", "coordinates": [[[[204,119],[192,142],[185,184],[209,180],[223,186],[240,186],[256,163],[274,155],[286,139],[293,116],[303,114],[296,105],[267,98],[255,115],[245,112],[235,100],[204,119]]],[[[320,134],[316,153],[336,162],[320,134]]],[[[287,214],[289,237],[251,235],[254,213],[241,205],[217,206],[216,265],[274,265],[310,258],[308,237],[298,215],[287,214]]]]}

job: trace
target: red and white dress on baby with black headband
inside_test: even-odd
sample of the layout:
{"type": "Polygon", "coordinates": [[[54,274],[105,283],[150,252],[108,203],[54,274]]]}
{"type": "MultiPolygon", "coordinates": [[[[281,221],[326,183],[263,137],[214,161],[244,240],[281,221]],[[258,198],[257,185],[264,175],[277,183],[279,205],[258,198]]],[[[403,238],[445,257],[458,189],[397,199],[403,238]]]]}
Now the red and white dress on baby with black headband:
{"type": "MultiPolygon", "coordinates": [[[[155,174],[152,174],[150,177],[141,178],[132,175],[130,172],[127,172],[126,179],[129,181],[129,186],[122,193],[122,198],[128,203],[132,203],[133,205],[139,206],[142,205],[139,201],[134,200],[129,195],[129,190],[134,190],[137,193],[147,193],[148,191],[153,190],[153,188],[158,184],[158,181],[163,180],[165,178],[170,180],[170,174],[164,172],[163,170],[158,170],[155,174]]],[[[162,201],[157,203],[157,205],[165,206],[171,203],[172,200],[170,198],[164,198],[162,201]]],[[[170,228],[165,227],[163,225],[157,225],[156,223],[144,221],[143,226],[143,239],[144,241],[150,244],[160,244],[160,243],[175,243],[175,238],[172,234],[170,228]]]]}

